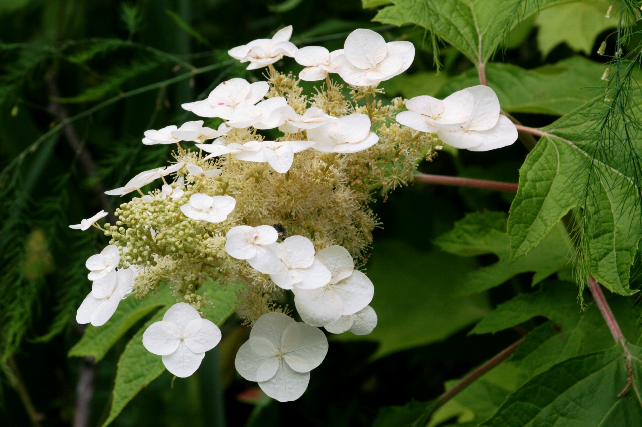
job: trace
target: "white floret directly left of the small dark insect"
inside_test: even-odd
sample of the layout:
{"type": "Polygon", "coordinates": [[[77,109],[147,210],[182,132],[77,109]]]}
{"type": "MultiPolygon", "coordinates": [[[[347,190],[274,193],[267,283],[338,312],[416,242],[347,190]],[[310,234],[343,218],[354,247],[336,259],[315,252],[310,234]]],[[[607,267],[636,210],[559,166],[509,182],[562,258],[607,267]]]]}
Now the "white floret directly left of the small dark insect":
{"type": "Polygon", "coordinates": [[[270,245],[279,239],[279,232],[268,225],[236,226],[227,232],[225,251],[239,260],[247,260],[254,269],[270,274],[279,271],[279,257],[270,245]]]}

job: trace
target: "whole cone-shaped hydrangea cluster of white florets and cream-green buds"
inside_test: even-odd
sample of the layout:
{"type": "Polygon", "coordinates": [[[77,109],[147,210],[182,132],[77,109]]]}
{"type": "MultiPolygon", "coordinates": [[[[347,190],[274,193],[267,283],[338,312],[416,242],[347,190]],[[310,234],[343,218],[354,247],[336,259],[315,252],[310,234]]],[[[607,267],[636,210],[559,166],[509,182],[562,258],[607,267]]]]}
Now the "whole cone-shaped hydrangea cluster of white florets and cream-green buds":
{"type": "Polygon", "coordinates": [[[329,52],[297,49],[291,33],[289,26],[230,49],[248,69],[268,67],[267,81],[232,78],[206,99],[182,105],[207,126],[198,120],[146,131],[143,144],[177,145],[173,162],[107,192],[141,196],[119,206],[116,224],[97,225],[100,212],[71,226],[93,225],[110,237],[87,260],[94,283],[78,322],[100,326],[124,297],[142,299],[169,286],[178,302],[144,332],[143,344],[169,372],[189,376],[221,340],[204,319],[211,301],[195,295],[211,278],[236,292],[238,314],[253,325],[236,369],[279,401],[298,399],[324,359],[320,328],[366,335],[377,324],[369,305],[374,285],[360,271],[378,224],[372,195],[406,185],[443,144],[485,151],[517,138],[487,87],[443,101],[377,101],[377,85],[410,67],[410,42],[386,43],[356,29],[343,49],[329,52]],[[274,68],[284,56],[304,65],[300,79],[325,80],[314,96],[274,68]],[[329,74],[351,85],[350,97],[329,74]],[[408,111],[401,112],[404,104],[408,111]],[[259,132],[276,129],[282,136],[270,140],[259,132]],[[157,180],[160,188],[143,192],[157,180]],[[303,322],[275,303],[288,291],[303,322]]]}

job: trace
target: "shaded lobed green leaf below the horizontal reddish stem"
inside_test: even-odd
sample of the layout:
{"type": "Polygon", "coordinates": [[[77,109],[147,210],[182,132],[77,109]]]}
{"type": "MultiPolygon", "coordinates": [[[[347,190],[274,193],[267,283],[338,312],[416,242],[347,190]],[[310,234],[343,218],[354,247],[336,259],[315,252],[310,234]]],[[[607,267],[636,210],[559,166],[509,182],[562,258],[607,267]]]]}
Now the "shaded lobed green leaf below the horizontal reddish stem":
{"type": "Polygon", "coordinates": [[[455,223],[455,228],[437,237],[435,244],[444,251],[461,256],[494,253],[495,264],[469,272],[460,280],[455,295],[468,295],[501,285],[521,272],[534,271],[532,283],[571,266],[568,255],[571,241],[564,227],[553,228],[541,244],[528,255],[509,262],[510,242],[505,233],[506,214],[503,212],[469,213],[455,223]]]}

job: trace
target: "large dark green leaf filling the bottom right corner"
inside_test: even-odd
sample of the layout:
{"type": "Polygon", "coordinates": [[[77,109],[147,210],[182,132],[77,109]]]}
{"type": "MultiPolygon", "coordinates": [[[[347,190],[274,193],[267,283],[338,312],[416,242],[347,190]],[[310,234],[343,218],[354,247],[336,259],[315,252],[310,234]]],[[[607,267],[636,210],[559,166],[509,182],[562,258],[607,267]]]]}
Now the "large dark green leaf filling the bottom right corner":
{"type": "Polygon", "coordinates": [[[627,384],[622,348],[577,356],[528,381],[508,396],[485,427],[512,426],[635,426],[642,419],[639,387],[642,349],[630,346],[634,382],[627,384]]]}

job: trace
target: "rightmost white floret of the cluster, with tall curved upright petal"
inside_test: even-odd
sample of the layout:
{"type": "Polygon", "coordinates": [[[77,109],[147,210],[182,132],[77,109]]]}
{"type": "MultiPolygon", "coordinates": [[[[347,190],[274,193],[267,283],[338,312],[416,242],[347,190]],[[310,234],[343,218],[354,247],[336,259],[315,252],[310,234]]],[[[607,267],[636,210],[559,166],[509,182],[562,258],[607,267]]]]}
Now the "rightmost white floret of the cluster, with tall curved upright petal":
{"type": "Polygon", "coordinates": [[[466,90],[475,99],[471,118],[456,128],[440,128],[438,137],[449,146],[470,151],[488,151],[515,142],[517,129],[508,117],[499,114],[495,92],[483,85],[466,90]]]}

